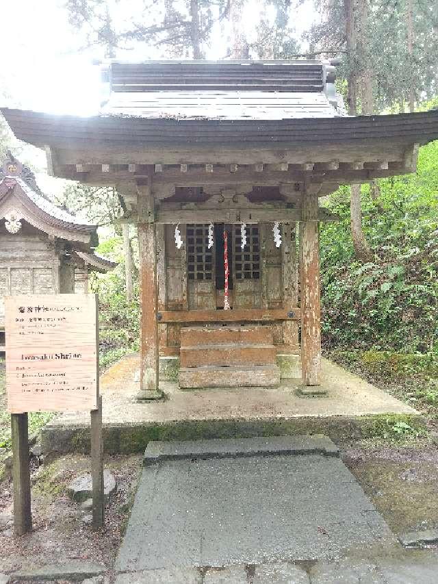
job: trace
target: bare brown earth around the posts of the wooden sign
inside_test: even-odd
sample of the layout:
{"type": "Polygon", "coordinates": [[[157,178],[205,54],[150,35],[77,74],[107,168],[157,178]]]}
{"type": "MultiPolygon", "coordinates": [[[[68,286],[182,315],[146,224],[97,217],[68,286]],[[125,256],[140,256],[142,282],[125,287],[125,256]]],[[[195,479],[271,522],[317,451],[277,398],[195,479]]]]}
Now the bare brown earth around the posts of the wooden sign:
{"type": "Polygon", "coordinates": [[[12,534],[12,484],[1,483],[0,492],[0,572],[87,559],[105,564],[111,574],[120,546],[125,521],[140,474],[139,455],[108,457],[117,481],[116,493],[105,509],[105,528],[94,533],[86,522],[90,511],[81,509],[65,494],[71,479],[88,472],[90,459],[69,455],[40,466],[33,460],[32,515],[34,531],[22,537],[12,534]]]}

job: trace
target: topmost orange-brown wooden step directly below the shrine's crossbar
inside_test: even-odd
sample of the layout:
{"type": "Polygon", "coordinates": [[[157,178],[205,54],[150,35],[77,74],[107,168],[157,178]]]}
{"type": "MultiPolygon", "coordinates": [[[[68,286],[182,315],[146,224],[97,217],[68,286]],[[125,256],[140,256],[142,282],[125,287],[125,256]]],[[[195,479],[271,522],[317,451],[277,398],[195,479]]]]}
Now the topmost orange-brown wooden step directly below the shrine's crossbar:
{"type": "Polygon", "coordinates": [[[259,327],[183,327],[181,346],[207,346],[218,344],[268,344],[272,345],[272,328],[259,327]]]}

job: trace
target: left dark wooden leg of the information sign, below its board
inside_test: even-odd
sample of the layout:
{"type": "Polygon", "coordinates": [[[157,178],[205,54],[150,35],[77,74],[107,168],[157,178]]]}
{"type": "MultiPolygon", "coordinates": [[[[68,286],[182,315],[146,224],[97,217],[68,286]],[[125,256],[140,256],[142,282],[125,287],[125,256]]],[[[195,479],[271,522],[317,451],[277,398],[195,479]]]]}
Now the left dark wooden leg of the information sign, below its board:
{"type": "Polygon", "coordinates": [[[32,529],[27,414],[11,414],[11,430],[14,533],[23,535],[32,529]]]}

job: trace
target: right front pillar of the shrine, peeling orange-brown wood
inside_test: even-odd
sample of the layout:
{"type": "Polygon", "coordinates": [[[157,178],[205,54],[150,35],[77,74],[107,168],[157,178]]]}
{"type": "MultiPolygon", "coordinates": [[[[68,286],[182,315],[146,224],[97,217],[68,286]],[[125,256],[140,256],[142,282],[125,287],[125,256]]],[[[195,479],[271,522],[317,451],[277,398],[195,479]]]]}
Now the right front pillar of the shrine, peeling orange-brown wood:
{"type": "Polygon", "coordinates": [[[300,222],[301,366],[304,385],[320,385],[321,300],[318,196],[302,196],[300,222]]]}

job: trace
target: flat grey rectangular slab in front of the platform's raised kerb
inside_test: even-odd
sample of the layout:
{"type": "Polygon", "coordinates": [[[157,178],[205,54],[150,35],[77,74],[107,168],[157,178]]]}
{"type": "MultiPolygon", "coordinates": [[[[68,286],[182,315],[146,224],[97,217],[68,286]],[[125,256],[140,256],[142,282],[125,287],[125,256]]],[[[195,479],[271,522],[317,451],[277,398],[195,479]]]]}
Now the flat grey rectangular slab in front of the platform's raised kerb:
{"type": "Polygon", "coordinates": [[[254,441],[244,442],[242,457],[211,458],[207,444],[145,466],[116,570],[315,561],[395,542],[339,458],[261,456],[257,445],[250,456],[254,441]]]}

